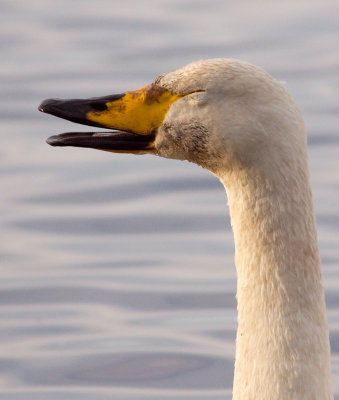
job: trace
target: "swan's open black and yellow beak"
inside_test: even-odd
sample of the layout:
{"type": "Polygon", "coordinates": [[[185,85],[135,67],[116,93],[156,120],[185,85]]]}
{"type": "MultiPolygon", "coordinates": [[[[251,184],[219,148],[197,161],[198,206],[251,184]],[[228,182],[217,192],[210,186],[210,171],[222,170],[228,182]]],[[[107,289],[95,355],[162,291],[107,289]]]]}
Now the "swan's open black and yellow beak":
{"type": "Polygon", "coordinates": [[[51,136],[51,146],[88,147],[112,152],[145,153],[154,150],[157,129],[171,104],[182,95],[155,84],[117,95],[90,99],[47,99],[39,110],[79,124],[114,129],[51,136]]]}

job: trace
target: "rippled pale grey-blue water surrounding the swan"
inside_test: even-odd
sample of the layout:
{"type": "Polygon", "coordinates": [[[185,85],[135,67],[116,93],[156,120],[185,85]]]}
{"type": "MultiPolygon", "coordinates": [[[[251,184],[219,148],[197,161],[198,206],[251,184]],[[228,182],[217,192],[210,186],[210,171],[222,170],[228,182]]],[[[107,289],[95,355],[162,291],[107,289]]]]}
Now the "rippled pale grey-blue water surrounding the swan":
{"type": "Polygon", "coordinates": [[[74,125],[37,111],[220,56],[286,81],[305,115],[339,399],[338,5],[235,3],[0,3],[3,400],[231,398],[221,184],[188,163],[51,148],[74,125]]]}

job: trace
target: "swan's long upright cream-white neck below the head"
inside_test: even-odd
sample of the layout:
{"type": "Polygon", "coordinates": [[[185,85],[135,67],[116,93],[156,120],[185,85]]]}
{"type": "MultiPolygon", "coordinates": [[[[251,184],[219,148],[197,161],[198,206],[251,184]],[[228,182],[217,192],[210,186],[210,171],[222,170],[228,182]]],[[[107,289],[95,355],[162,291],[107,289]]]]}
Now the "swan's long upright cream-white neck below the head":
{"type": "Polygon", "coordinates": [[[238,275],[234,400],[333,399],[306,153],[299,157],[297,167],[222,178],[238,275]]]}

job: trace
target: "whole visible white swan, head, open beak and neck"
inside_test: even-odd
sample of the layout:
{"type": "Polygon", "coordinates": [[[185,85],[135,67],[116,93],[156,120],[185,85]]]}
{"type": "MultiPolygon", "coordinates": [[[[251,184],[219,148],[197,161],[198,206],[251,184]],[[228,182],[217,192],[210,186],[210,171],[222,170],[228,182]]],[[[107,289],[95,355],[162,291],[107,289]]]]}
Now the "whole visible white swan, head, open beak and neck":
{"type": "Polygon", "coordinates": [[[135,91],[39,109],[114,129],[52,146],[188,160],[218,177],[237,269],[233,400],[333,399],[306,130],[281,83],[247,62],[200,60],[135,91]]]}

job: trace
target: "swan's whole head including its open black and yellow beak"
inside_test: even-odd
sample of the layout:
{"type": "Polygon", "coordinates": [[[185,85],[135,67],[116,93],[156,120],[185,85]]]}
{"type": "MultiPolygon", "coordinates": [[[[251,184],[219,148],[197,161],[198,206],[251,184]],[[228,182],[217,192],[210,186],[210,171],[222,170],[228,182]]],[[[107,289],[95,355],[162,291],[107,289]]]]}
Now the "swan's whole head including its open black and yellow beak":
{"type": "Polygon", "coordinates": [[[53,146],[151,153],[194,162],[214,174],[260,165],[302,145],[292,97],[263,69],[235,59],[200,60],[144,88],[90,99],[45,100],[40,111],[115,129],[50,137],[53,146]]]}

